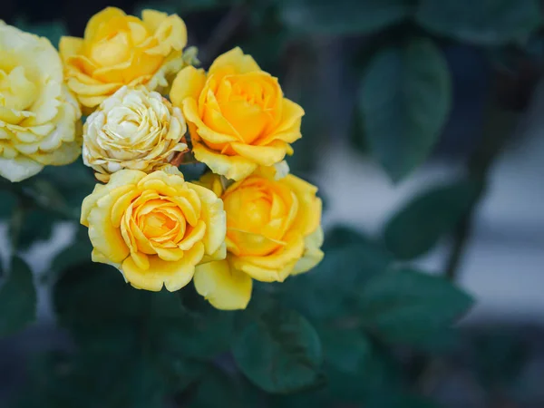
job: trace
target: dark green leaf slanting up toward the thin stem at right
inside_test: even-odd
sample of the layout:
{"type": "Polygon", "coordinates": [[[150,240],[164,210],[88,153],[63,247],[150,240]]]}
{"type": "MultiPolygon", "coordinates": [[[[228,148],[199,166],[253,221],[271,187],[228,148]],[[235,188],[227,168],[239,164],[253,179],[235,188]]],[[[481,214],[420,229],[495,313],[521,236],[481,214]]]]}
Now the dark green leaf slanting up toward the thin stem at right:
{"type": "Polygon", "coordinates": [[[400,259],[423,255],[455,228],[480,192],[481,184],[472,180],[423,192],[387,222],[385,245],[400,259]]]}

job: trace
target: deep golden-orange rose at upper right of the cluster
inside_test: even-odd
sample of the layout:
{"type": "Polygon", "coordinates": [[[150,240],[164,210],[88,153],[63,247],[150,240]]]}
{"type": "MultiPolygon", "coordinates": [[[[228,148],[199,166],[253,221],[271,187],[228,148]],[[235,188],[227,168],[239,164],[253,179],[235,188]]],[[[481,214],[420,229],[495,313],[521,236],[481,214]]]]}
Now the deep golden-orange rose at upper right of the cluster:
{"type": "Polygon", "coordinates": [[[170,100],[183,107],[195,158],[228,179],[283,160],[293,153],[289,143],[300,138],[303,109],[239,48],[220,55],[208,74],[181,70],[170,100]]]}

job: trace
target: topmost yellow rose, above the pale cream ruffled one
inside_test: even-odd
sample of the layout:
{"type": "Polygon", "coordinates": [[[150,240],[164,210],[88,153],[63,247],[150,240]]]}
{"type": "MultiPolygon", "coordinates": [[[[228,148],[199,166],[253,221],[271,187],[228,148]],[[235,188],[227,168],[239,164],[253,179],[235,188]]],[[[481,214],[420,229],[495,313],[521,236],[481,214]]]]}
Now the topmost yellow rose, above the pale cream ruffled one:
{"type": "Polygon", "coordinates": [[[83,38],[63,37],[66,82],[87,111],[123,85],[166,89],[183,66],[187,29],[178,15],[144,10],[141,19],[115,7],[93,15],[83,38]]]}

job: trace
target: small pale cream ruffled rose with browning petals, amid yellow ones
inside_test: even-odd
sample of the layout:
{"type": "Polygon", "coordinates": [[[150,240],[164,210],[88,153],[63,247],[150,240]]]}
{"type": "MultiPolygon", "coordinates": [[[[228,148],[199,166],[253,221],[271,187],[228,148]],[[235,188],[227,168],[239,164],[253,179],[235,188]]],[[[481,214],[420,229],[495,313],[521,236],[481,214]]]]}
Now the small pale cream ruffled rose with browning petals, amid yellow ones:
{"type": "Polygon", "coordinates": [[[122,169],[158,170],[186,151],[187,126],[179,108],[158,92],[126,86],[92,112],[83,126],[83,162],[98,180],[122,169]]]}

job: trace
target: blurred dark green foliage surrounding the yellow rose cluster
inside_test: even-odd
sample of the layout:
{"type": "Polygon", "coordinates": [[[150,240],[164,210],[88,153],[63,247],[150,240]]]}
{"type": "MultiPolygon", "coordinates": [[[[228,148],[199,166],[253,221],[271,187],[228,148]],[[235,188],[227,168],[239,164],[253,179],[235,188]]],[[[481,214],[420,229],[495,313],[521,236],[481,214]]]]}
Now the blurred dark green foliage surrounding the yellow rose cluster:
{"type": "MultiPolygon", "coordinates": [[[[516,61],[544,55],[535,45],[544,38],[537,0],[160,0],[131,6],[128,12],[152,7],[179,13],[204,65],[239,44],[279,77],[287,96],[306,110],[304,138],[290,159],[291,169],[305,176],[351,126],[355,150],[379,163],[393,182],[409,177],[432,155],[451,119],[447,46],[485,47],[489,55],[508,52],[516,61]],[[342,61],[331,53],[338,48],[342,61]],[[355,75],[354,86],[341,88],[351,93],[332,97],[345,73],[355,75]]],[[[70,18],[60,14],[49,23],[31,23],[25,15],[13,23],[57,44],[70,18]]],[[[519,66],[512,65],[514,71],[519,66]]],[[[491,109],[500,105],[495,91],[486,96],[491,109]]],[[[245,311],[219,312],[190,286],[173,294],[128,287],[113,267],[91,263],[86,231],[78,229],[45,274],[58,325],[73,347],[35,356],[14,406],[439,406],[420,395],[421,384],[436,355],[454,352],[452,324],[473,300],[411,261],[442,238],[461,248],[466,236],[456,231],[481,198],[504,139],[483,138],[475,155],[463,157],[465,177],[414,197],[377,237],[329,228],[318,267],[282,284],[257,284],[245,311]]],[[[189,180],[202,171],[192,165],[181,170],[189,180]]],[[[50,238],[59,221],[77,225],[93,186],[81,160],[24,183],[3,182],[0,217],[9,224],[11,251],[50,238]]],[[[35,316],[32,274],[13,259],[0,281],[0,335],[35,316]]],[[[484,337],[476,348],[474,370],[485,386],[510,381],[498,373],[520,367],[515,341],[484,337]]]]}

